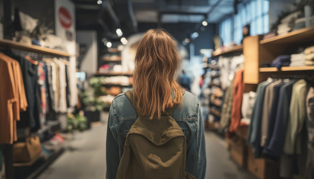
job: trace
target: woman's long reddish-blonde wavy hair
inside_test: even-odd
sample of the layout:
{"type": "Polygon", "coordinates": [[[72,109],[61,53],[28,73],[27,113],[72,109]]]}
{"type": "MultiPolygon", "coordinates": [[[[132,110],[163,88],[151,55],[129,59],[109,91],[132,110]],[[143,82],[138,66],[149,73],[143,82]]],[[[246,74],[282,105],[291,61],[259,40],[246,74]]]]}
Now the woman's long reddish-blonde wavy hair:
{"type": "Polygon", "coordinates": [[[182,89],[175,81],[180,61],[169,33],[162,29],[145,32],[138,44],[133,73],[133,94],[140,114],[160,118],[166,108],[182,104],[182,89]]]}

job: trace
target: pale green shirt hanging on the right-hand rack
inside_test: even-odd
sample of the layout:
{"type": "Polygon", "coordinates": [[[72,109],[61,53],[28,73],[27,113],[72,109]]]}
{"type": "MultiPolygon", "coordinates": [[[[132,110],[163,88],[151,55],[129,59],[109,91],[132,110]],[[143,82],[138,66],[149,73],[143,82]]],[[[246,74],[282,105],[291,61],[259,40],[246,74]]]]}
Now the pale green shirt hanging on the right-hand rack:
{"type": "Polygon", "coordinates": [[[286,137],[284,142],[284,153],[288,155],[300,154],[301,152],[301,130],[306,119],[306,95],[309,85],[304,79],[297,81],[292,88],[289,118],[286,137]]]}

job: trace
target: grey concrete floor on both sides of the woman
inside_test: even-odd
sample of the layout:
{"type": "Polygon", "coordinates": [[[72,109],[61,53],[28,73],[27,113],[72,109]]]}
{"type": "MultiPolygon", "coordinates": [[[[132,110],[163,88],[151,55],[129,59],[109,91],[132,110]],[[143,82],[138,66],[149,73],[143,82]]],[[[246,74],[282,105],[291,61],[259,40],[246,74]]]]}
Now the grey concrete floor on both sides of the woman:
{"type": "MultiPolygon", "coordinates": [[[[106,130],[100,126],[75,135],[68,150],[37,179],[105,179],[106,130]]],[[[214,132],[205,132],[207,150],[206,179],[256,179],[230,159],[225,141],[214,132]]]]}

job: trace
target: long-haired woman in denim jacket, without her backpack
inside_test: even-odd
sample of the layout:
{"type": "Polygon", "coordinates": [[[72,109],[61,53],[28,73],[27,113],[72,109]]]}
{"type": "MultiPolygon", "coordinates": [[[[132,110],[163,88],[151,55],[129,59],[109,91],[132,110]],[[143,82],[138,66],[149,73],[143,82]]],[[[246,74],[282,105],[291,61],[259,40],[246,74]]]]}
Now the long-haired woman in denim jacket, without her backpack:
{"type": "MultiPolygon", "coordinates": [[[[197,179],[205,177],[206,151],[202,113],[190,92],[183,92],[174,80],[180,65],[176,43],[161,29],[148,30],[138,44],[133,74],[133,95],[138,113],[152,119],[178,104],[172,114],[186,137],[185,171],[197,179]]],[[[107,179],[115,179],[127,133],[138,118],[127,95],[112,101],[107,129],[107,179]]]]}

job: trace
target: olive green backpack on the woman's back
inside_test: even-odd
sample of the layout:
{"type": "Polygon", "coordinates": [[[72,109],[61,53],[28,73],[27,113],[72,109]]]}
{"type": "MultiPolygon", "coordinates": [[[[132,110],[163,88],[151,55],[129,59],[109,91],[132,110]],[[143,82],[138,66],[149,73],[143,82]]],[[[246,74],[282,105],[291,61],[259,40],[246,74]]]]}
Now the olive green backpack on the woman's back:
{"type": "Polygon", "coordinates": [[[127,134],[116,179],[195,179],[185,171],[187,141],[171,117],[176,105],[150,120],[138,113],[132,92],[125,94],[138,119],[127,134]]]}

